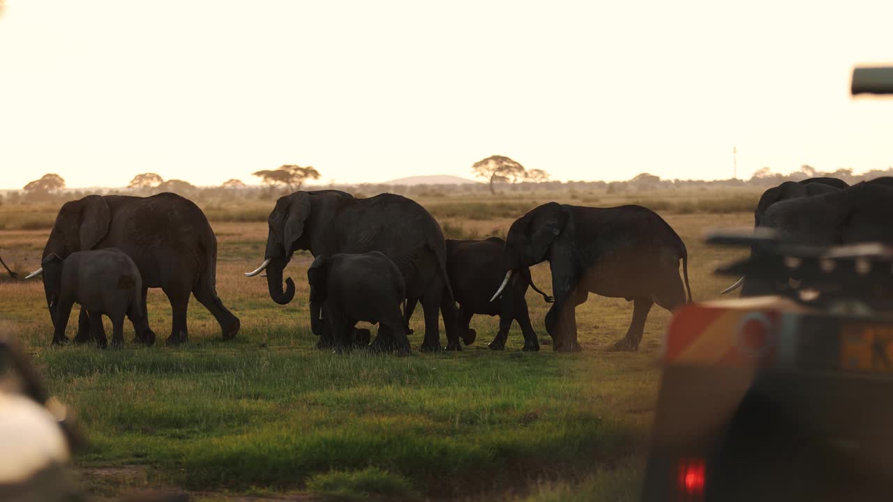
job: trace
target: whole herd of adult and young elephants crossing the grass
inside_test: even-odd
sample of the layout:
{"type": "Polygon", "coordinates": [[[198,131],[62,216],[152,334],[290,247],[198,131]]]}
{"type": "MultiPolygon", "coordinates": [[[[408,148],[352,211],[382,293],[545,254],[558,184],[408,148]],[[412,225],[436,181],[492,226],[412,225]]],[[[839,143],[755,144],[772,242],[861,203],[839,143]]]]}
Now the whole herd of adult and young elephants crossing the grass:
{"type": "MultiPolygon", "coordinates": [[[[893,244],[893,178],[849,186],[842,180],[812,178],[769,188],[755,207],[755,227],[778,230],[805,244],[864,241],[893,244]]],[[[288,304],[295,282],[284,269],[297,250],[314,257],[307,270],[310,326],[317,347],[366,347],[411,351],[409,320],[421,304],[422,351],[461,350],[477,339],[469,327],[474,314],[499,316],[488,347],[505,348],[513,322],[523,350],[539,350],[525,294],[535,289],[551,303],[544,324],[555,350],[577,351],[575,309],[589,293],[622,297],[633,304],[632,321],[614,350],[637,350],[647,314],[656,303],[673,311],[691,301],[688,251],[670,225],[639,205],[597,208],[550,202],[512,223],[505,240],[446,239],[438,222],[413,200],[380,194],[356,198],[338,190],[297,191],[280,197],[268,218],[263,263],[271,299],[288,304]],[[530,267],[547,261],[552,295],[540,291],[530,267]],[[680,277],[681,264],[681,277],[680,277]],[[458,308],[456,306],[458,304],[458,308]],[[369,330],[357,322],[378,324],[369,330]]],[[[752,254],[760,253],[754,247],[752,254]]],[[[80,305],[76,342],[106,342],[101,315],[113,324],[113,345],[121,345],[124,317],[136,340],[151,345],[146,292],[161,288],[171,302],[168,344],[187,340],[190,295],[221,326],[223,339],[239,330],[238,317],[216,292],[217,239],[204,213],[184,197],[91,195],[63,205],[44,247],[46,305],[54,323],[54,344],[67,341],[65,328],[74,303],[80,305]]],[[[743,277],[723,291],[742,296],[776,294],[796,277],[743,277]]]]}

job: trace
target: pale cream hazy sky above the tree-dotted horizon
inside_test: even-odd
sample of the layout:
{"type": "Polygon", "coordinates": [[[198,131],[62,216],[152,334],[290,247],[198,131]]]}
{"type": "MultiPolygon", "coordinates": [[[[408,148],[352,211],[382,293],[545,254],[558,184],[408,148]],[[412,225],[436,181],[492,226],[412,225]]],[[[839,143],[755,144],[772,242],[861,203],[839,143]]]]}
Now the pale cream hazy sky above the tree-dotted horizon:
{"type": "Polygon", "coordinates": [[[893,2],[6,0],[0,188],[893,166],[893,2]],[[827,4],[827,5],[825,5],[827,4]]]}

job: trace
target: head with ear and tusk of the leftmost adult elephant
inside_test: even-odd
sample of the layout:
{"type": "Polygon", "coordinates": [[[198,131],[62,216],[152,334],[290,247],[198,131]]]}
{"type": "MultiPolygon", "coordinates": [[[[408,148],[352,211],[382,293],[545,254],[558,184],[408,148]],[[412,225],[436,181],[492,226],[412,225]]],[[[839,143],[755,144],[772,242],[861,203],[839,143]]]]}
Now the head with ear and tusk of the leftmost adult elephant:
{"type": "MultiPolygon", "coordinates": [[[[112,210],[104,197],[93,195],[66,202],[56,215],[43,256],[55,254],[64,259],[71,253],[92,249],[108,233],[111,223],[112,210]]],[[[41,267],[25,279],[43,271],[41,267]]]]}

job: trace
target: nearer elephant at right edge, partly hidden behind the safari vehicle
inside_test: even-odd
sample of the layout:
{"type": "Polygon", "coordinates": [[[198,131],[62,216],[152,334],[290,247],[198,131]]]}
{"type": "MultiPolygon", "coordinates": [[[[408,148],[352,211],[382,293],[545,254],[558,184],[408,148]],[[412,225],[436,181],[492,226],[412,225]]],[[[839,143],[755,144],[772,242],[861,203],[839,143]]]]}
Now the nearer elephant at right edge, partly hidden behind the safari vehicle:
{"type": "MultiPolygon", "coordinates": [[[[780,238],[804,245],[893,244],[890,214],[893,178],[883,177],[814,197],[780,201],[766,209],[760,227],[775,229],[780,238]]],[[[759,249],[752,248],[751,255],[758,257],[759,249]]],[[[741,291],[741,296],[784,292],[790,288],[789,277],[787,270],[780,269],[772,271],[767,279],[748,278],[747,289],[741,291]]]]}

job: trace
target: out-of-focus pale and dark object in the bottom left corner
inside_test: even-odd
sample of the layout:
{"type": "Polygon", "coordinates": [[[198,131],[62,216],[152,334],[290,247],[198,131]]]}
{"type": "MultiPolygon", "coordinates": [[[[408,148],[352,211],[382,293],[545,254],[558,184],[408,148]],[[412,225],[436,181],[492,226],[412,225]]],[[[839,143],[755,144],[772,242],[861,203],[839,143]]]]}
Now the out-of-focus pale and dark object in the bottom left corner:
{"type": "Polygon", "coordinates": [[[67,408],[11,340],[0,337],[0,500],[86,500],[71,475],[83,441],[67,408]]]}

